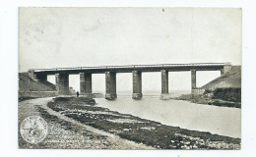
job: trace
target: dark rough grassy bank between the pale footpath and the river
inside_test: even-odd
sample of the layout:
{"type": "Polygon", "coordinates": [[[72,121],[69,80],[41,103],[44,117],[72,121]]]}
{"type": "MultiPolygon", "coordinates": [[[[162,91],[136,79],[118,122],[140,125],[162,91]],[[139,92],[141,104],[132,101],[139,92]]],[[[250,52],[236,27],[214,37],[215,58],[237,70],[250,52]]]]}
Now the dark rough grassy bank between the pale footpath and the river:
{"type": "Polygon", "coordinates": [[[160,149],[239,149],[240,138],[188,131],[97,107],[94,99],[55,98],[47,106],[102,131],[160,149]]]}

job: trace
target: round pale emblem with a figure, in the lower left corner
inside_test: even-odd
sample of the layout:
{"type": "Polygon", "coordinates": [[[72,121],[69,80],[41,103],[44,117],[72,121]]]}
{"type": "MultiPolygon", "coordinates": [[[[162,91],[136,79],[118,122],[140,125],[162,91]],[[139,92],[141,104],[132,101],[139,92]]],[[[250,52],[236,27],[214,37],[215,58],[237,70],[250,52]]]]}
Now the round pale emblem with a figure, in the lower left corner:
{"type": "Polygon", "coordinates": [[[48,125],[47,122],[39,116],[29,116],[22,122],[20,132],[24,140],[36,144],[46,137],[48,125]]]}

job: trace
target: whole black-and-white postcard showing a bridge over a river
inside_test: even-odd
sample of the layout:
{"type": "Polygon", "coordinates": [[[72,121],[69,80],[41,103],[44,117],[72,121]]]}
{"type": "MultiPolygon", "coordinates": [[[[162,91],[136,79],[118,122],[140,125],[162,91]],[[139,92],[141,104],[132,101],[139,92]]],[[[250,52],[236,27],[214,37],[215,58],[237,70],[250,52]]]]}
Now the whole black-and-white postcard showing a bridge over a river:
{"type": "Polygon", "coordinates": [[[19,8],[19,148],[240,149],[241,14],[19,8]]]}

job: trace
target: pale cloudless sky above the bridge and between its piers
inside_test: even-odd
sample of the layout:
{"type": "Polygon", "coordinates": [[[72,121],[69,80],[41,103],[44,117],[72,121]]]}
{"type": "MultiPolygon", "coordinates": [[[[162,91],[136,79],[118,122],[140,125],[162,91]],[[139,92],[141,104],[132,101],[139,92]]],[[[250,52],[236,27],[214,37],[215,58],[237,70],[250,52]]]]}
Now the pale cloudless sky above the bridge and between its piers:
{"type": "MultiPolygon", "coordinates": [[[[20,8],[19,72],[38,68],[224,63],[241,65],[241,10],[213,8],[20,8]]],[[[198,72],[197,86],[221,72],[198,72]]],[[[160,73],[143,73],[160,90],[160,73]]],[[[54,76],[48,80],[55,81],[54,76]]],[[[70,76],[79,90],[79,76],[70,76]]],[[[191,88],[190,72],[169,73],[170,90],[191,88]]],[[[93,75],[104,91],[104,75],[93,75]]],[[[132,75],[117,74],[117,91],[132,75]]]]}

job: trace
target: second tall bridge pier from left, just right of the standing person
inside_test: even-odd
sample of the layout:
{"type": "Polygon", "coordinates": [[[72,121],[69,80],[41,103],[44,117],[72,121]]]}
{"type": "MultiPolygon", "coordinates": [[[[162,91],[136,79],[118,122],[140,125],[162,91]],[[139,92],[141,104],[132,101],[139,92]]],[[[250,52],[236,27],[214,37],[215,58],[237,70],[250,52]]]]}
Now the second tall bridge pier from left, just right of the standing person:
{"type": "Polygon", "coordinates": [[[80,73],[80,93],[82,95],[92,96],[92,74],[80,73]]]}

